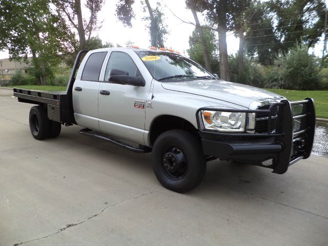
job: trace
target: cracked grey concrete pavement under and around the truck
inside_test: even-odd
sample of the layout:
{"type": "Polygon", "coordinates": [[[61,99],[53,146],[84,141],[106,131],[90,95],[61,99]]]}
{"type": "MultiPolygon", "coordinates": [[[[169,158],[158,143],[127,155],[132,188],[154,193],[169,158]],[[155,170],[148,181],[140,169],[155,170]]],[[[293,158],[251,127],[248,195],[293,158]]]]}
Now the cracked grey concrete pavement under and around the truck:
{"type": "Polygon", "coordinates": [[[328,245],[328,158],[283,174],[214,160],[187,194],[150,154],[64,127],[34,140],[31,105],[0,89],[0,245],[328,245]]]}

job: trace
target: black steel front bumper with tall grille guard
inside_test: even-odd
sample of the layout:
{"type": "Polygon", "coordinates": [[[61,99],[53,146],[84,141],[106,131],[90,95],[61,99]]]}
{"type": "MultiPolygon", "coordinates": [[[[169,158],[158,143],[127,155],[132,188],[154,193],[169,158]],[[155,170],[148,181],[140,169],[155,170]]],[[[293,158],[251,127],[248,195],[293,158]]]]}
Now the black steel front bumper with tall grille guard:
{"type": "Polygon", "coordinates": [[[315,108],[311,98],[295,102],[282,100],[268,110],[242,111],[267,113],[268,128],[264,133],[204,131],[200,110],[207,108],[196,113],[204,155],[271,168],[274,173],[282,174],[293,163],[311,154],[315,132],[315,108]]]}

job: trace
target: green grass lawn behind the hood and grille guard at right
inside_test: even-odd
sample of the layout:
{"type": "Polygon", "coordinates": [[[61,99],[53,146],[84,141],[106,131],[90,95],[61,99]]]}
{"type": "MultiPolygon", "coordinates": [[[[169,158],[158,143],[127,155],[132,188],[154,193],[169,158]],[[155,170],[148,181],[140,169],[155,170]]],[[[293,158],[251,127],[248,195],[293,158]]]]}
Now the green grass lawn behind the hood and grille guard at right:
{"type": "Polygon", "coordinates": [[[282,89],[266,89],[286,97],[291,101],[303,100],[306,97],[314,99],[317,118],[328,119],[328,91],[293,91],[282,89]]]}

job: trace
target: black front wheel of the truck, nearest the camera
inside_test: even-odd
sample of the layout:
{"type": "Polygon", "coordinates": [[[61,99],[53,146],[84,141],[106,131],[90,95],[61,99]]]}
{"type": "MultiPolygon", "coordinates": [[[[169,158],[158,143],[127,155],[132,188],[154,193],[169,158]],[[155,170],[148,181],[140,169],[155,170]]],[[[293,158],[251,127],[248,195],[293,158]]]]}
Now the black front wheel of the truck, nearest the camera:
{"type": "Polygon", "coordinates": [[[198,186],[206,171],[199,139],[183,130],[166,131],[157,137],[152,162],[162,186],[180,193],[198,186]]]}

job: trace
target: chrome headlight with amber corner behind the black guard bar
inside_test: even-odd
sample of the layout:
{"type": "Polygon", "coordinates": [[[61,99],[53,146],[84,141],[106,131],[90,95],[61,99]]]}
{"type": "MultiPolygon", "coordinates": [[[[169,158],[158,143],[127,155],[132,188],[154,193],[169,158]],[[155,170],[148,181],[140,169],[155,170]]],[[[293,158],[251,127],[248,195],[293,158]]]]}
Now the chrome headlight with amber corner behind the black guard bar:
{"type": "Polygon", "coordinates": [[[248,115],[245,112],[201,110],[200,114],[204,130],[218,132],[245,132],[246,129],[254,130],[255,114],[253,115],[253,113],[248,115]]]}

